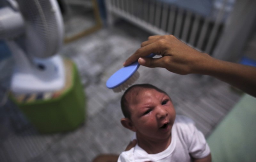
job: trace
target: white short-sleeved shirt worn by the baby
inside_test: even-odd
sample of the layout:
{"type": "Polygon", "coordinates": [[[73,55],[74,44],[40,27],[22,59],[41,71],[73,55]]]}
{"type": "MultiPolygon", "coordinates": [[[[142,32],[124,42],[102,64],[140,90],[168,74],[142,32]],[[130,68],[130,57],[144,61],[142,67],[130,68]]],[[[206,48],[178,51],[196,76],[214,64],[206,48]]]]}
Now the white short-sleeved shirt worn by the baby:
{"type": "Polygon", "coordinates": [[[129,151],[120,154],[118,162],[190,162],[191,158],[204,158],[210,154],[202,132],[186,116],[176,115],[172,126],[171,144],[162,152],[148,154],[137,144],[129,151]]]}

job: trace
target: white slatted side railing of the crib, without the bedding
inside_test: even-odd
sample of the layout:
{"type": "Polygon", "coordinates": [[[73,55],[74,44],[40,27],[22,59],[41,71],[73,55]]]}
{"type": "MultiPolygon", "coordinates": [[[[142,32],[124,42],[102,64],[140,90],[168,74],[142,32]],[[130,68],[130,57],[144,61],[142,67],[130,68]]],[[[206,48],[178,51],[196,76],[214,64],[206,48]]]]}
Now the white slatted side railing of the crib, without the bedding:
{"type": "Polygon", "coordinates": [[[105,3],[110,25],[115,17],[121,17],[152,34],[172,34],[190,46],[212,54],[225,25],[227,1],[224,0],[214,17],[158,0],[105,0],[105,3]]]}

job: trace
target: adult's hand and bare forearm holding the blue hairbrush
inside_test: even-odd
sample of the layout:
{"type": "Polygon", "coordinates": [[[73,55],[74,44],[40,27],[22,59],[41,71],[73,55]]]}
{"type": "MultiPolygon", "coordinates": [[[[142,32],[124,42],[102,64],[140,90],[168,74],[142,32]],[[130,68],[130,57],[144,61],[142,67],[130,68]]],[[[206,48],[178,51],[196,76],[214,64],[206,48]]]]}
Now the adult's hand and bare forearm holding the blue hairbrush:
{"type": "Polygon", "coordinates": [[[146,67],[163,67],[177,74],[210,75],[256,97],[256,67],[214,59],[181,42],[173,35],[150,36],[124,66],[138,60],[146,67]],[[151,53],[160,58],[146,58],[151,53]]]}

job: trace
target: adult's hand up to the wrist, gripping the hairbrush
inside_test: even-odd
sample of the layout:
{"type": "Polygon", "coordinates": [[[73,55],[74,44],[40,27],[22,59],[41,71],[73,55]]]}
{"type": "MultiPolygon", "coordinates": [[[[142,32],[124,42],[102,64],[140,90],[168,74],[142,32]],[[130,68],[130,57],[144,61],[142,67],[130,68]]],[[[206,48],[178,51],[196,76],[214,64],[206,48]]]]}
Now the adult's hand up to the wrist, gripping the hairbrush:
{"type": "Polygon", "coordinates": [[[201,53],[181,42],[173,35],[155,35],[141,44],[134,54],[125,62],[124,66],[138,60],[146,67],[163,67],[177,74],[199,73],[204,64],[212,59],[208,54],[201,53]],[[150,53],[162,55],[160,58],[146,58],[150,53]],[[138,60],[139,59],[139,60],[138,60]]]}

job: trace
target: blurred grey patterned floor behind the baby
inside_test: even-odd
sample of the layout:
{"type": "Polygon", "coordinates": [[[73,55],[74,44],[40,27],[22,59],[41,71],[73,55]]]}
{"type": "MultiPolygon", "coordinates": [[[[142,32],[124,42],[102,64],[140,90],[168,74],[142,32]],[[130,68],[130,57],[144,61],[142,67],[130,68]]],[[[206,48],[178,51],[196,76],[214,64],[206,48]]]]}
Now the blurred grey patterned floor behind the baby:
{"type": "MultiPolygon", "coordinates": [[[[107,89],[105,83],[149,35],[120,21],[113,28],[63,46],[60,54],[76,63],[87,96],[84,124],[66,133],[39,134],[19,109],[7,102],[0,109],[0,161],[90,162],[100,153],[123,151],[132,132],[120,124],[122,93],[107,89]]],[[[168,92],[177,113],[191,117],[206,137],[240,98],[228,84],[205,76],[146,67],[139,72],[136,83],[151,83],[168,92]]],[[[8,70],[6,73],[10,76],[8,70]]]]}

